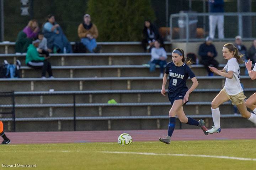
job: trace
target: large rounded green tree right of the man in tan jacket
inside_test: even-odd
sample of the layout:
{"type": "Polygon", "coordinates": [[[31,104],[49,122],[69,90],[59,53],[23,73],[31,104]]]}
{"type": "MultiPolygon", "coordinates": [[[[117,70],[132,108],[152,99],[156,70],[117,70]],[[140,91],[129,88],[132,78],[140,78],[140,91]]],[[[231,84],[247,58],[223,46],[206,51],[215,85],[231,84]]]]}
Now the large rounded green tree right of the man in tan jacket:
{"type": "Polygon", "coordinates": [[[87,11],[98,41],[140,41],[145,19],[154,21],[150,0],[89,0],[87,11]]]}

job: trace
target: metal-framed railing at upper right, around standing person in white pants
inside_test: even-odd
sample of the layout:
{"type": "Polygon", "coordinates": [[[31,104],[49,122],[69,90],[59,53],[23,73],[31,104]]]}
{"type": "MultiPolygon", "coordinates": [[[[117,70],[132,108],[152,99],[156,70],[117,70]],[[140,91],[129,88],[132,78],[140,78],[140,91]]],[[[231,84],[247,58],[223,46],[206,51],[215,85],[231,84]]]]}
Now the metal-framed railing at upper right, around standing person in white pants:
{"type": "MultiPolygon", "coordinates": [[[[236,35],[243,40],[256,38],[256,12],[196,13],[184,12],[170,16],[171,42],[202,41],[209,35],[209,15],[224,16],[224,39],[234,41],[236,35]],[[198,28],[200,33],[198,33],[198,28]],[[247,34],[247,35],[244,35],[247,34]]],[[[216,26],[215,33],[218,27],[216,26]]]]}

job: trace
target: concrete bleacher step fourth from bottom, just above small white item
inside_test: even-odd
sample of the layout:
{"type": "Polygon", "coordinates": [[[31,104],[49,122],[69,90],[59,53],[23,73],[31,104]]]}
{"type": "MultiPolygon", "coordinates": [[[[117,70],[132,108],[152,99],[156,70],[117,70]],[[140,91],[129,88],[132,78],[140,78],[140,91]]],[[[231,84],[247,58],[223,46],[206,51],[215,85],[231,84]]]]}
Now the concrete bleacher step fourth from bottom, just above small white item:
{"type": "MultiPolygon", "coordinates": [[[[225,79],[221,76],[198,76],[197,89],[220,89],[225,79]]],[[[249,76],[241,76],[244,88],[255,88],[249,76]]],[[[1,91],[82,91],[82,90],[141,90],[160,89],[160,77],[101,77],[101,78],[2,78],[1,91]]],[[[190,87],[192,81],[187,81],[190,87]]],[[[167,85],[166,85],[167,87],[167,85]]]]}

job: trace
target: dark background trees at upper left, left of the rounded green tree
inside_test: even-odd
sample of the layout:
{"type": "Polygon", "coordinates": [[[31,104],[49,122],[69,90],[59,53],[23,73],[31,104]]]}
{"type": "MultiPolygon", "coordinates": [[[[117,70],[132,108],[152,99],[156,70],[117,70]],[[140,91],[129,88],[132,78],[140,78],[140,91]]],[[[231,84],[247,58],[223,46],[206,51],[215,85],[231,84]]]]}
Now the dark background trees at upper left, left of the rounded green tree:
{"type": "MultiPolygon", "coordinates": [[[[34,0],[34,18],[40,28],[46,22],[47,16],[52,14],[60,24],[70,41],[79,40],[77,28],[83,21],[87,0],[34,0]]],[[[30,16],[21,16],[20,0],[4,2],[5,40],[14,42],[17,34],[31,20],[30,16]]]]}

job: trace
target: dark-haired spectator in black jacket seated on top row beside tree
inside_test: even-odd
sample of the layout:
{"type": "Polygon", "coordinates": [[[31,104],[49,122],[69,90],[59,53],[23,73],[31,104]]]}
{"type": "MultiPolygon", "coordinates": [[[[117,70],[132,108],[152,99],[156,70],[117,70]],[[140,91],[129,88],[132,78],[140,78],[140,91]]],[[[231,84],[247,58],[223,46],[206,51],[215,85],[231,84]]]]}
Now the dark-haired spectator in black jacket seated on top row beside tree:
{"type": "Polygon", "coordinates": [[[164,41],[160,36],[156,27],[148,20],[144,22],[144,29],[143,29],[143,39],[142,39],[142,46],[144,51],[148,52],[151,51],[151,48],[154,46],[155,40],[159,39],[160,44],[164,47],[164,41]]]}

